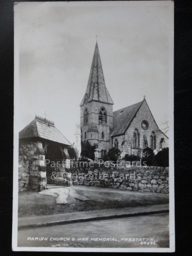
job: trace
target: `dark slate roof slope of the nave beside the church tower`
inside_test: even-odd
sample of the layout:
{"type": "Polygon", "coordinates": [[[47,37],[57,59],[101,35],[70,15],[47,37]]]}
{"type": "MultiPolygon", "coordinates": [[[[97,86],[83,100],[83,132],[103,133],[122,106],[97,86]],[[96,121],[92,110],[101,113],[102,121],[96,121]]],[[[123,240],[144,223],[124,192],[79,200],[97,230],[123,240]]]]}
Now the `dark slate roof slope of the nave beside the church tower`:
{"type": "Polygon", "coordinates": [[[137,113],[143,101],[135,103],[126,108],[121,108],[113,112],[113,134],[112,136],[124,134],[126,128],[131,124],[133,117],[137,113]]]}

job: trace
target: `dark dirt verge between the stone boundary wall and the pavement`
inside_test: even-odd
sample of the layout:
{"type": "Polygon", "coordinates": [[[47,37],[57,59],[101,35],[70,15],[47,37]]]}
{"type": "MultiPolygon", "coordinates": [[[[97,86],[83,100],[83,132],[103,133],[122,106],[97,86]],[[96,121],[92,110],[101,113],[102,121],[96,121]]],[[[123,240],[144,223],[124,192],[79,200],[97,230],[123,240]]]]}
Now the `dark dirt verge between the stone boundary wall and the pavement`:
{"type": "Polygon", "coordinates": [[[136,191],[86,186],[73,186],[72,188],[75,189],[76,194],[88,197],[90,200],[82,201],[69,195],[68,200],[70,203],[56,204],[53,196],[41,195],[31,191],[22,191],[19,192],[18,216],[29,217],[34,215],[94,211],[169,203],[168,194],[140,193],[136,191]]]}

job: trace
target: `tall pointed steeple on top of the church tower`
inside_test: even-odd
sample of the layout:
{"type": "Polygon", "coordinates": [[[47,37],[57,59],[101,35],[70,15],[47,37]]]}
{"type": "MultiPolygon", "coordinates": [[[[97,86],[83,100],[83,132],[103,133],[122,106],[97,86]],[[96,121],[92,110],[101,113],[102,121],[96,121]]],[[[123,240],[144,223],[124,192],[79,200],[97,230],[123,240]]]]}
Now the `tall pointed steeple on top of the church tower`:
{"type": "Polygon", "coordinates": [[[105,86],[105,79],[103,75],[97,41],[93,54],[87,89],[84,94],[83,100],[81,101],[80,107],[84,105],[85,101],[99,101],[102,103],[108,103],[113,105],[113,100],[111,99],[111,96],[105,86]]]}

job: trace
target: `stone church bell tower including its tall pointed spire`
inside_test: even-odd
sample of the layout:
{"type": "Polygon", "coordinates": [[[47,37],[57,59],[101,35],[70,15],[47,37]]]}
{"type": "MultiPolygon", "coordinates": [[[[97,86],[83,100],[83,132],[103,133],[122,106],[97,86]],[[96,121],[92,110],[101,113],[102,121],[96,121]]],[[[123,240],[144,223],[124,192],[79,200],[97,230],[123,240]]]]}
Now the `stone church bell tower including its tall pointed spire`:
{"type": "Polygon", "coordinates": [[[105,85],[96,42],[87,88],[80,104],[80,127],[82,140],[88,140],[92,146],[98,146],[98,158],[102,158],[112,145],[113,104],[105,85]]]}

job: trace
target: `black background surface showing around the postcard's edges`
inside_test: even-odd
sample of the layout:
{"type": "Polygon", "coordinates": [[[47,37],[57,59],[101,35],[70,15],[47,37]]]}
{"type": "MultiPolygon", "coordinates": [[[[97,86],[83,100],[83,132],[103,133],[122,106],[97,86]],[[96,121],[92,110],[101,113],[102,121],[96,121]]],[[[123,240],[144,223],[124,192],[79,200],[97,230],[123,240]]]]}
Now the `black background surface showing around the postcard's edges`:
{"type": "MultiPolygon", "coordinates": [[[[13,0],[0,0],[1,255],[33,254],[32,252],[12,252],[11,249],[14,68],[13,3],[13,0]]],[[[175,254],[188,255],[192,251],[192,212],[190,204],[192,200],[192,146],[191,125],[189,125],[192,112],[192,1],[176,0],[174,8],[175,254]]],[[[53,253],[46,252],[46,254],[53,253]]]]}

